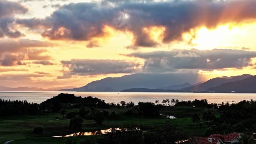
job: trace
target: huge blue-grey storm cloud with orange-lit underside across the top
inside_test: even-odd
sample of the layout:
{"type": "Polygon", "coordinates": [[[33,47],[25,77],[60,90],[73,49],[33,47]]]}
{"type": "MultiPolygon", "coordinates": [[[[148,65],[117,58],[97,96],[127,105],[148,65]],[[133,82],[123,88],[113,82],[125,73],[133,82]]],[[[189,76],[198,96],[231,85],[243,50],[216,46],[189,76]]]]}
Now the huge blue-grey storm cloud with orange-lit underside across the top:
{"type": "Polygon", "coordinates": [[[104,36],[104,25],[134,34],[134,46],[156,46],[144,27],[163,26],[163,42],[180,40],[191,28],[216,27],[226,22],[256,18],[255,0],[133,1],[108,0],[101,3],[70,3],[45,19],[19,19],[27,27],[45,27],[50,39],[91,40],[104,36]]]}

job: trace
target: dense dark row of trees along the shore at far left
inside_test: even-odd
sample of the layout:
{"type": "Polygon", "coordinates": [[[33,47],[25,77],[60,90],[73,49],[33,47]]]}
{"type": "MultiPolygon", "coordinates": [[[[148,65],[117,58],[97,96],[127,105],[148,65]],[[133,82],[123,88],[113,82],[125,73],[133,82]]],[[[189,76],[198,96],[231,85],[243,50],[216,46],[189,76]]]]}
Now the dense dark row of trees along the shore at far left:
{"type": "Polygon", "coordinates": [[[0,99],[0,116],[10,116],[13,114],[40,114],[39,104],[34,104],[21,100],[0,99]]]}

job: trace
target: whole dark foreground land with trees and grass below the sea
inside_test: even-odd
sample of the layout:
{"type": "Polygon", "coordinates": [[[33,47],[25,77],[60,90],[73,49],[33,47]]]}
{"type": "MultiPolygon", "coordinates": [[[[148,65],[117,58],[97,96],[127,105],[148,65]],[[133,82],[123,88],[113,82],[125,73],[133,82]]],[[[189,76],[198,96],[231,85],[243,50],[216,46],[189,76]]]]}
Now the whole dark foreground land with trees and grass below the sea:
{"type": "Polygon", "coordinates": [[[209,104],[206,99],[164,99],[135,105],[61,93],[41,104],[1,99],[0,116],[0,144],[8,140],[15,140],[10,144],[175,144],[194,136],[232,132],[251,138],[256,132],[253,100],[209,104]],[[120,129],[103,135],[51,138],[109,128],[120,129]]]}

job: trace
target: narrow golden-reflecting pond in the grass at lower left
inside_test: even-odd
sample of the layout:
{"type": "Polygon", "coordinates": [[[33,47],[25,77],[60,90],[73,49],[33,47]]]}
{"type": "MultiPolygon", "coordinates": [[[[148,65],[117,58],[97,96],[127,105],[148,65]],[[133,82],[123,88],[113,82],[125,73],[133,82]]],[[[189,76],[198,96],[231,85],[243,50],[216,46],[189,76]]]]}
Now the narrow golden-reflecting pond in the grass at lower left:
{"type": "MultiPolygon", "coordinates": [[[[140,130],[140,128],[135,128],[137,131],[140,130]]],[[[74,137],[74,136],[82,136],[82,135],[99,135],[99,134],[107,134],[112,132],[112,130],[116,130],[116,131],[121,131],[121,128],[110,128],[110,129],[101,129],[100,131],[92,131],[92,132],[76,132],[73,134],[69,134],[69,135],[58,135],[58,136],[54,136],[54,137],[74,137]]],[[[127,129],[124,129],[125,131],[127,131],[127,129]]]]}

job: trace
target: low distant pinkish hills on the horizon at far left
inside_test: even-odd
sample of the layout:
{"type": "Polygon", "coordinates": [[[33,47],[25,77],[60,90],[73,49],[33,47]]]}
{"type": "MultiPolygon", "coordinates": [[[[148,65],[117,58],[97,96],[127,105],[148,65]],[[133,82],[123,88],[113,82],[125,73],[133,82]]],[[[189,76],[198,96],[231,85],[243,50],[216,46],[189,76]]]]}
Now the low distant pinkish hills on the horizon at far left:
{"type": "Polygon", "coordinates": [[[76,86],[64,86],[64,87],[54,87],[48,89],[42,89],[37,87],[18,87],[18,88],[11,88],[8,86],[0,86],[0,91],[59,91],[60,89],[67,89],[67,88],[77,88],[76,86]]]}

